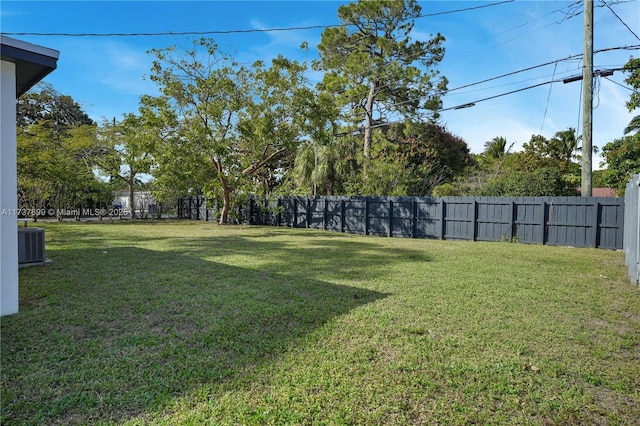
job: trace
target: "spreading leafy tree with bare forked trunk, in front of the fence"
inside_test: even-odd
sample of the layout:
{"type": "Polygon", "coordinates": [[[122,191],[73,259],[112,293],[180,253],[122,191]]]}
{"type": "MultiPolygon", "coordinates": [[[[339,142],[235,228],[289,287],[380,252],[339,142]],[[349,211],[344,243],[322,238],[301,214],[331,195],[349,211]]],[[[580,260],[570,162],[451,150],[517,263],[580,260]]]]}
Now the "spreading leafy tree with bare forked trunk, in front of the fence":
{"type": "Polygon", "coordinates": [[[158,149],[165,169],[159,172],[169,166],[185,178],[197,175],[194,187],[214,178],[223,201],[220,223],[226,223],[233,192],[255,183],[259,172],[274,171],[309,133],[314,96],[305,67],[283,57],[270,67],[262,61],[239,66],[208,39],[195,40],[191,49],[152,52],[151,79],[161,95],[144,98],[143,108],[171,117],[178,132],[158,149]]]}

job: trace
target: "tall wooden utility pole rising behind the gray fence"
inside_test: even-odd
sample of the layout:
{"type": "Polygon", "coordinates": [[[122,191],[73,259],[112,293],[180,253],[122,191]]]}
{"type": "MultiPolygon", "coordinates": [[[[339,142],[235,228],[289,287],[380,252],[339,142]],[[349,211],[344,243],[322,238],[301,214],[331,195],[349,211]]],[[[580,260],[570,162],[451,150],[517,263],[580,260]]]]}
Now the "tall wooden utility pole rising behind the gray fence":
{"type": "Polygon", "coordinates": [[[584,66],[582,67],[582,183],[583,197],[591,197],[593,132],[593,0],[584,0],[584,66]]]}

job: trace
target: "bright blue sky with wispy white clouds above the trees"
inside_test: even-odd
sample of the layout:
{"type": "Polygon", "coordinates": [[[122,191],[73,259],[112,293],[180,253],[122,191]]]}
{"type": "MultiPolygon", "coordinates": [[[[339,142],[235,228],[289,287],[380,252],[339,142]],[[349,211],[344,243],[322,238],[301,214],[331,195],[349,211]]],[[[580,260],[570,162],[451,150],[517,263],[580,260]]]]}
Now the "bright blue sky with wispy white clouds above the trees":
{"type": "MultiPolygon", "coordinates": [[[[583,52],[582,5],[570,1],[516,0],[464,12],[495,2],[420,1],[426,16],[416,21],[414,37],[445,36],[440,72],[454,89],[564,59],[583,52]],[[572,16],[577,13],[576,16],[572,16]]],[[[7,1],[0,4],[0,31],[10,37],[60,51],[58,69],[46,78],[55,89],[80,103],[96,121],[136,112],[143,94],[154,94],[149,75],[152,48],[186,44],[198,36],[17,35],[13,33],[161,33],[259,30],[338,24],[339,1],[7,1]]],[[[615,4],[595,0],[594,50],[640,45],[640,1],[615,4]],[[616,16],[617,15],[617,16],[616,16]],[[628,26],[629,28],[627,28],[628,26]],[[634,34],[635,33],[635,34],[634,34]]],[[[239,62],[269,60],[278,54],[304,61],[317,56],[322,29],[213,34],[211,38],[239,62]],[[310,46],[306,54],[299,48],[310,46]]],[[[621,67],[638,50],[611,50],[594,55],[594,68],[621,67]]],[[[519,149],[532,134],[551,137],[568,127],[580,129],[581,82],[554,83],[492,100],[500,95],[581,73],[580,58],[538,67],[510,77],[453,90],[444,107],[475,102],[445,111],[441,121],[479,153],[486,141],[504,136],[519,149]]],[[[603,146],[622,136],[634,114],[624,105],[631,93],[624,74],[597,79],[594,92],[593,143],[603,146]]],[[[319,76],[309,73],[312,81],[319,76]]],[[[597,168],[600,158],[594,158],[597,168]]]]}

